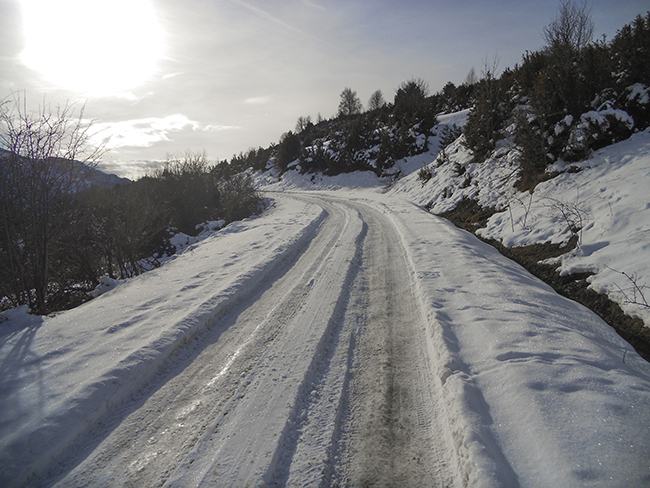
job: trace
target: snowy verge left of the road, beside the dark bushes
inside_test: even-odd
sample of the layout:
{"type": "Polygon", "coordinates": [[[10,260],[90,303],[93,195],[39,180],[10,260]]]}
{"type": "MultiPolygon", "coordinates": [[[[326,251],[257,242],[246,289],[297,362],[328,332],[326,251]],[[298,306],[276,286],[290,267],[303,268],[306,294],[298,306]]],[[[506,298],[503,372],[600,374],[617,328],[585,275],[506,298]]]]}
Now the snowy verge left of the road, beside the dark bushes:
{"type": "Polygon", "coordinates": [[[65,457],[176,348],[300,252],[323,218],[318,206],[283,200],[74,310],[8,312],[0,323],[0,485],[21,485],[65,457]]]}

